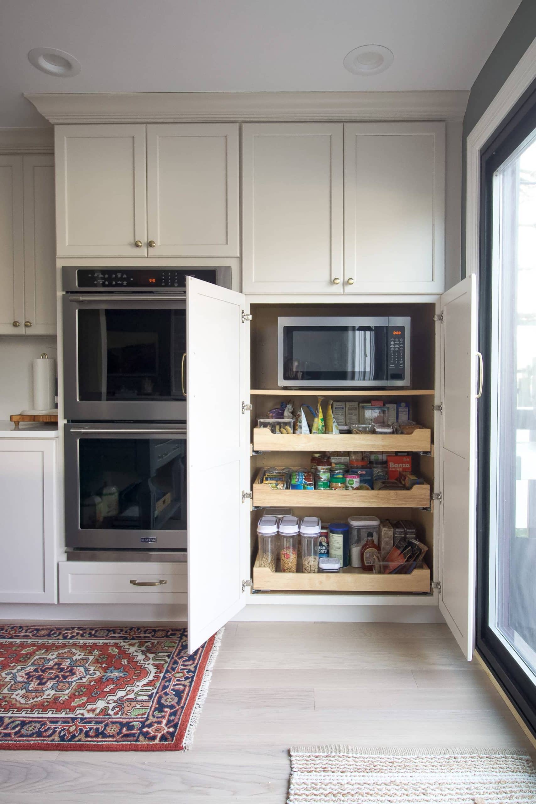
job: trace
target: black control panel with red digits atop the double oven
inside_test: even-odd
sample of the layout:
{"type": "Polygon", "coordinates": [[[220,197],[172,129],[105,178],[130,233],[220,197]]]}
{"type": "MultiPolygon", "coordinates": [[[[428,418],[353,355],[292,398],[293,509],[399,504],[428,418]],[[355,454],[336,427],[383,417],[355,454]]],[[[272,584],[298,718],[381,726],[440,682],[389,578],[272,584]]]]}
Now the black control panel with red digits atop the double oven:
{"type": "Polygon", "coordinates": [[[186,287],[186,277],[203,279],[211,285],[216,285],[217,274],[215,268],[79,268],[76,271],[76,287],[80,290],[95,288],[176,290],[186,287]]]}

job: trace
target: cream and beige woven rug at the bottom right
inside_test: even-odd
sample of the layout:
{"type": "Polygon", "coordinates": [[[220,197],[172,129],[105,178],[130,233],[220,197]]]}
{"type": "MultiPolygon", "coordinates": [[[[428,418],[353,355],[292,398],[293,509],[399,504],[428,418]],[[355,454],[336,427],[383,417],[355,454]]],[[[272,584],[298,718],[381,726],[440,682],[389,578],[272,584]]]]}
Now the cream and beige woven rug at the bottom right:
{"type": "Polygon", "coordinates": [[[534,804],[530,757],[493,749],[290,749],[288,804],[534,804]]]}

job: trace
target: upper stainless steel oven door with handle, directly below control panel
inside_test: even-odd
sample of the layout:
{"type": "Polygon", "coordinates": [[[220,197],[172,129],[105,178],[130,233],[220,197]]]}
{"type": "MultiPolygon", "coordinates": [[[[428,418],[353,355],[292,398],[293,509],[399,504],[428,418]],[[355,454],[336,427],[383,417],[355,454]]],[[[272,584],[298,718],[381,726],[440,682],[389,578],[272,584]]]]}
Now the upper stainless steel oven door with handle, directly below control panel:
{"type": "Polygon", "coordinates": [[[79,299],[64,301],[66,418],[186,418],[185,301],[79,299]]]}

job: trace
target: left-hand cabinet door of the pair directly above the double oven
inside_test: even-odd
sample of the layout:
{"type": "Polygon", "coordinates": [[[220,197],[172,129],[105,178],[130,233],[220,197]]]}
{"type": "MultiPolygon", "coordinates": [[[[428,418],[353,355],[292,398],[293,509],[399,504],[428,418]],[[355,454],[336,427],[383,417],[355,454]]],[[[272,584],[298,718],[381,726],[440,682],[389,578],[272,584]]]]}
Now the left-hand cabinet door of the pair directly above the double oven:
{"type": "Polygon", "coordinates": [[[58,256],[146,255],[145,125],[56,125],[55,187],[58,256]]]}

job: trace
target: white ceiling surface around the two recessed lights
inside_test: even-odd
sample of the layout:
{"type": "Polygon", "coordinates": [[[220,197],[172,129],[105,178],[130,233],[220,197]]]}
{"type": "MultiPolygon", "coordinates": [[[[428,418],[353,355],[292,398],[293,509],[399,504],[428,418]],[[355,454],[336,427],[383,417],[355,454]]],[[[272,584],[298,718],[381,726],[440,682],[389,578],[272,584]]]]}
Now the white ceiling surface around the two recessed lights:
{"type": "Polygon", "coordinates": [[[23,92],[469,89],[520,0],[0,0],[0,126],[45,125],[23,92]],[[377,76],[342,59],[391,48],[377,76]],[[76,56],[56,78],[32,47],[76,56]]]}

